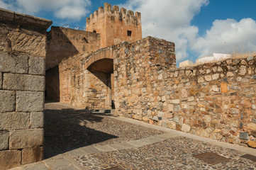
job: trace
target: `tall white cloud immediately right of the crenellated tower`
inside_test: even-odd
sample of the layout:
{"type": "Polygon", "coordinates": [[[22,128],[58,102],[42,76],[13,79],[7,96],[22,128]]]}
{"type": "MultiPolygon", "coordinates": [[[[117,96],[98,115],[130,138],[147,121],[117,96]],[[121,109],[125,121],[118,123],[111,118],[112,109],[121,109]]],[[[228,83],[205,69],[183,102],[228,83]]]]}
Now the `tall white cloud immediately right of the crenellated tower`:
{"type": "Polygon", "coordinates": [[[191,26],[191,20],[207,4],[208,0],[129,0],[124,6],[142,13],[143,37],[151,35],[174,42],[180,62],[188,57],[189,42],[199,31],[191,26]]]}

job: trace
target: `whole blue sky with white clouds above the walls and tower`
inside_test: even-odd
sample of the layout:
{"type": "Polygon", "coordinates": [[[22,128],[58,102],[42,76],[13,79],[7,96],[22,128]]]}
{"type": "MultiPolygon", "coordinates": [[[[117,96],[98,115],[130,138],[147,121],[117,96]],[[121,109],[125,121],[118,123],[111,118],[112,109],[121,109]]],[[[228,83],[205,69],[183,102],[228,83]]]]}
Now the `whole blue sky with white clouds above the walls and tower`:
{"type": "MultiPolygon", "coordinates": [[[[0,0],[1,8],[85,28],[101,0],[0,0]]],[[[256,51],[255,0],[108,0],[142,13],[143,37],[176,45],[177,62],[213,52],[256,51]]]]}

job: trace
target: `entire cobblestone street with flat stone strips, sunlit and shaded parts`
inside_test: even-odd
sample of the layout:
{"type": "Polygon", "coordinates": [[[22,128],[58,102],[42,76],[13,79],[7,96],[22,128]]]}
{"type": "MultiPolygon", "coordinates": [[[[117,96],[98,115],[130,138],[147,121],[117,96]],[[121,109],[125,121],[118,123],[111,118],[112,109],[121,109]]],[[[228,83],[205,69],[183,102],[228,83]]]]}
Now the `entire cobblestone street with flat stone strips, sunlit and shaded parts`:
{"type": "MultiPolygon", "coordinates": [[[[45,140],[48,141],[45,144],[45,154],[48,154],[49,158],[15,170],[256,170],[255,161],[241,157],[244,154],[256,156],[255,149],[196,137],[126,118],[93,115],[60,103],[47,103],[45,109],[45,140]],[[228,160],[221,158],[220,163],[210,164],[194,157],[206,152],[218,154],[228,160]]],[[[213,160],[213,157],[210,159],[213,160]]]]}

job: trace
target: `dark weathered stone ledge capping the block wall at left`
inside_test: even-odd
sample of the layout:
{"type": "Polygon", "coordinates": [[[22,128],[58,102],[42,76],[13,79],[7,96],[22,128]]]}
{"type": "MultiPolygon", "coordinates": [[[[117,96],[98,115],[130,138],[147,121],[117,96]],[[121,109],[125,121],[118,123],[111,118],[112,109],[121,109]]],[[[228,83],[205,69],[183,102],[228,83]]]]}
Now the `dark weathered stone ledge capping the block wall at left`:
{"type": "Polygon", "coordinates": [[[45,29],[49,28],[49,26],[52,25],[52,21],[48,19],[29,16],[23,13],[17,13],[4,8],[0,8],[0,21],[11,21],[25,26],[34,26],[37,28],[45,29]]]}

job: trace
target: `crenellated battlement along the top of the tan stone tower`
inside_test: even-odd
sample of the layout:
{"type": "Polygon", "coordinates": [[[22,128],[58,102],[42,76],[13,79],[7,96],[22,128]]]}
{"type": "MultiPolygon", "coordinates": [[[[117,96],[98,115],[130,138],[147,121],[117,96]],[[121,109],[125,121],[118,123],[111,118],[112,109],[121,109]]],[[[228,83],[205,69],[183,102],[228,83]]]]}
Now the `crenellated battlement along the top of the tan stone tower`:
{"type": "Polygon", "coordinates": [[[104,8],[100,6],[97,11],[91,13],[90,17],[87,18],[87,26],[96,23],[106,16],[111,16],[113,21],[118,20],[135,26],[141,23],[141,14],[139,12],[127,11],[126,8],[120,8],[119,10],[119,6],[111,7],[111,4],[105,3],[104,8]]]}

